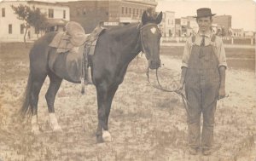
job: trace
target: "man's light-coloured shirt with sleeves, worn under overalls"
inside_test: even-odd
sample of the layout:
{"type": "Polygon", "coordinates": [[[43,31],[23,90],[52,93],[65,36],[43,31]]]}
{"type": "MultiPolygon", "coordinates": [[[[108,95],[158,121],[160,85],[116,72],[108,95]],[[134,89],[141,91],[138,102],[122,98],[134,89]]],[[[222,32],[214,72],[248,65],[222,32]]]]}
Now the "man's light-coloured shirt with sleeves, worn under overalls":
{"type": "MultiPolygon", "coordinates": [[[[212,33],[208,32],[205,35],[205,45],[209,45],[212,44],[212,49],[215,53],[215,55],[217,55],[218,58],[218,66],[225,66],[227,67],[227,62],[226,62],[226,54],[225,54],[225,50],[224,50],[224,44],[222,42],[221,37],[216,36],[214,43],[211,42],[211,38],[212,38],[212,33]]],[[[185,44],[184,50],[183,50],[183,60],[182,60],[182,67],[188,67],[188,63],[189,63],[189,57],[191,55],[191,49],[192,46],[195,45],[201,45],[201,39],[202,39],[202,34],[200,32],[198,32],[195,35],[195,42],[192,42],[192,37],[189,37],[187,39],[187,42],[185,44]]]]}

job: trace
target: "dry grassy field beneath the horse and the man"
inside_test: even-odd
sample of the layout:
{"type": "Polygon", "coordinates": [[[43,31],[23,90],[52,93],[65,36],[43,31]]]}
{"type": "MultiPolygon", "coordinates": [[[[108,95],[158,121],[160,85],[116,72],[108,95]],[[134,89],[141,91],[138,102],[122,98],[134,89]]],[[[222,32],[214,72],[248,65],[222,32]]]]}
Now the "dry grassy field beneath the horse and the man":
{"type": "MultiPolygon", "coordinates": [[[[29,69],[28,50],[20,43],[0,43],[0,160],[3,161],[255,161],[255,51],[226,49],[229,97],[218,101],[215,152],[189,155],[186,112],[178,95],[154,89],[147,81],[144,57],[131,62],[125,81],[113,99],[109,132],[113,141],[96,144],[96,89],[64,81],[55,113],[63,132],[49,129],[44,95],[38,102],[41,135],[32,135],[28,120],[17,116],[29,69]]],[[[172,89],[178,80],[181,47],[162,47],[160,81],[172,89]]],[[[154,72],[150,72],[154,82],[154,72]]]]}

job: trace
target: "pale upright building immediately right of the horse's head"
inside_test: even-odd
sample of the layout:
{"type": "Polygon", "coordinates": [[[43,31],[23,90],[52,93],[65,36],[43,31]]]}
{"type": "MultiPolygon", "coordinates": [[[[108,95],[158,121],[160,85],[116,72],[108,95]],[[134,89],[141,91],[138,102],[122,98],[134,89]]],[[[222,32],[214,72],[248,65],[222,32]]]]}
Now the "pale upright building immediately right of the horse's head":
{"type": "Polygon", "coordinates": [[[175,12],[166,11],[163,12],[163,18],[160,23],[160,30],[163,37],[175,36],[175,12]]]}

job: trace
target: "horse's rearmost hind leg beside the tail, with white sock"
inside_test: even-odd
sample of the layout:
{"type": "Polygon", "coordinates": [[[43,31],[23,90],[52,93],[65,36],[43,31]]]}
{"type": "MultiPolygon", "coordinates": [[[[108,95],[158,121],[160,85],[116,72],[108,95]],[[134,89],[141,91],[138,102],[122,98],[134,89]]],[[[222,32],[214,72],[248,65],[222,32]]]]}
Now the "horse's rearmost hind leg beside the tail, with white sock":
{"type": "Polygon", "coordinates": [[[46,78],[46,74],[35,76],[32,75],[32,89],[30,94],[30,106],[32,106],[32,133],[39,134],[38,126],[38,95],[46,78]],[[33,77],[34,76],[34,77],[33,77]]]}

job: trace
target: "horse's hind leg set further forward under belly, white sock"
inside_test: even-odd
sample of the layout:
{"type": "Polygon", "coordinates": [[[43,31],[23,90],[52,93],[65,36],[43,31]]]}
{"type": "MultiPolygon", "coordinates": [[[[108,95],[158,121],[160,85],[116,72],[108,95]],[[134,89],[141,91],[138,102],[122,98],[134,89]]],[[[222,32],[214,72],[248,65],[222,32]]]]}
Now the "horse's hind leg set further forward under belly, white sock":
{"type": "Polygon", "coordinates": [[[55,132],[61,132],[61,126],[58,124],[57,118],[55,116],[55,95],[60,89],[62,79],[57,77],[53,72],[49,72],[49,89],[45,95],[47,101],[48,111],[49,111],[49,126],[55,132]]]}

